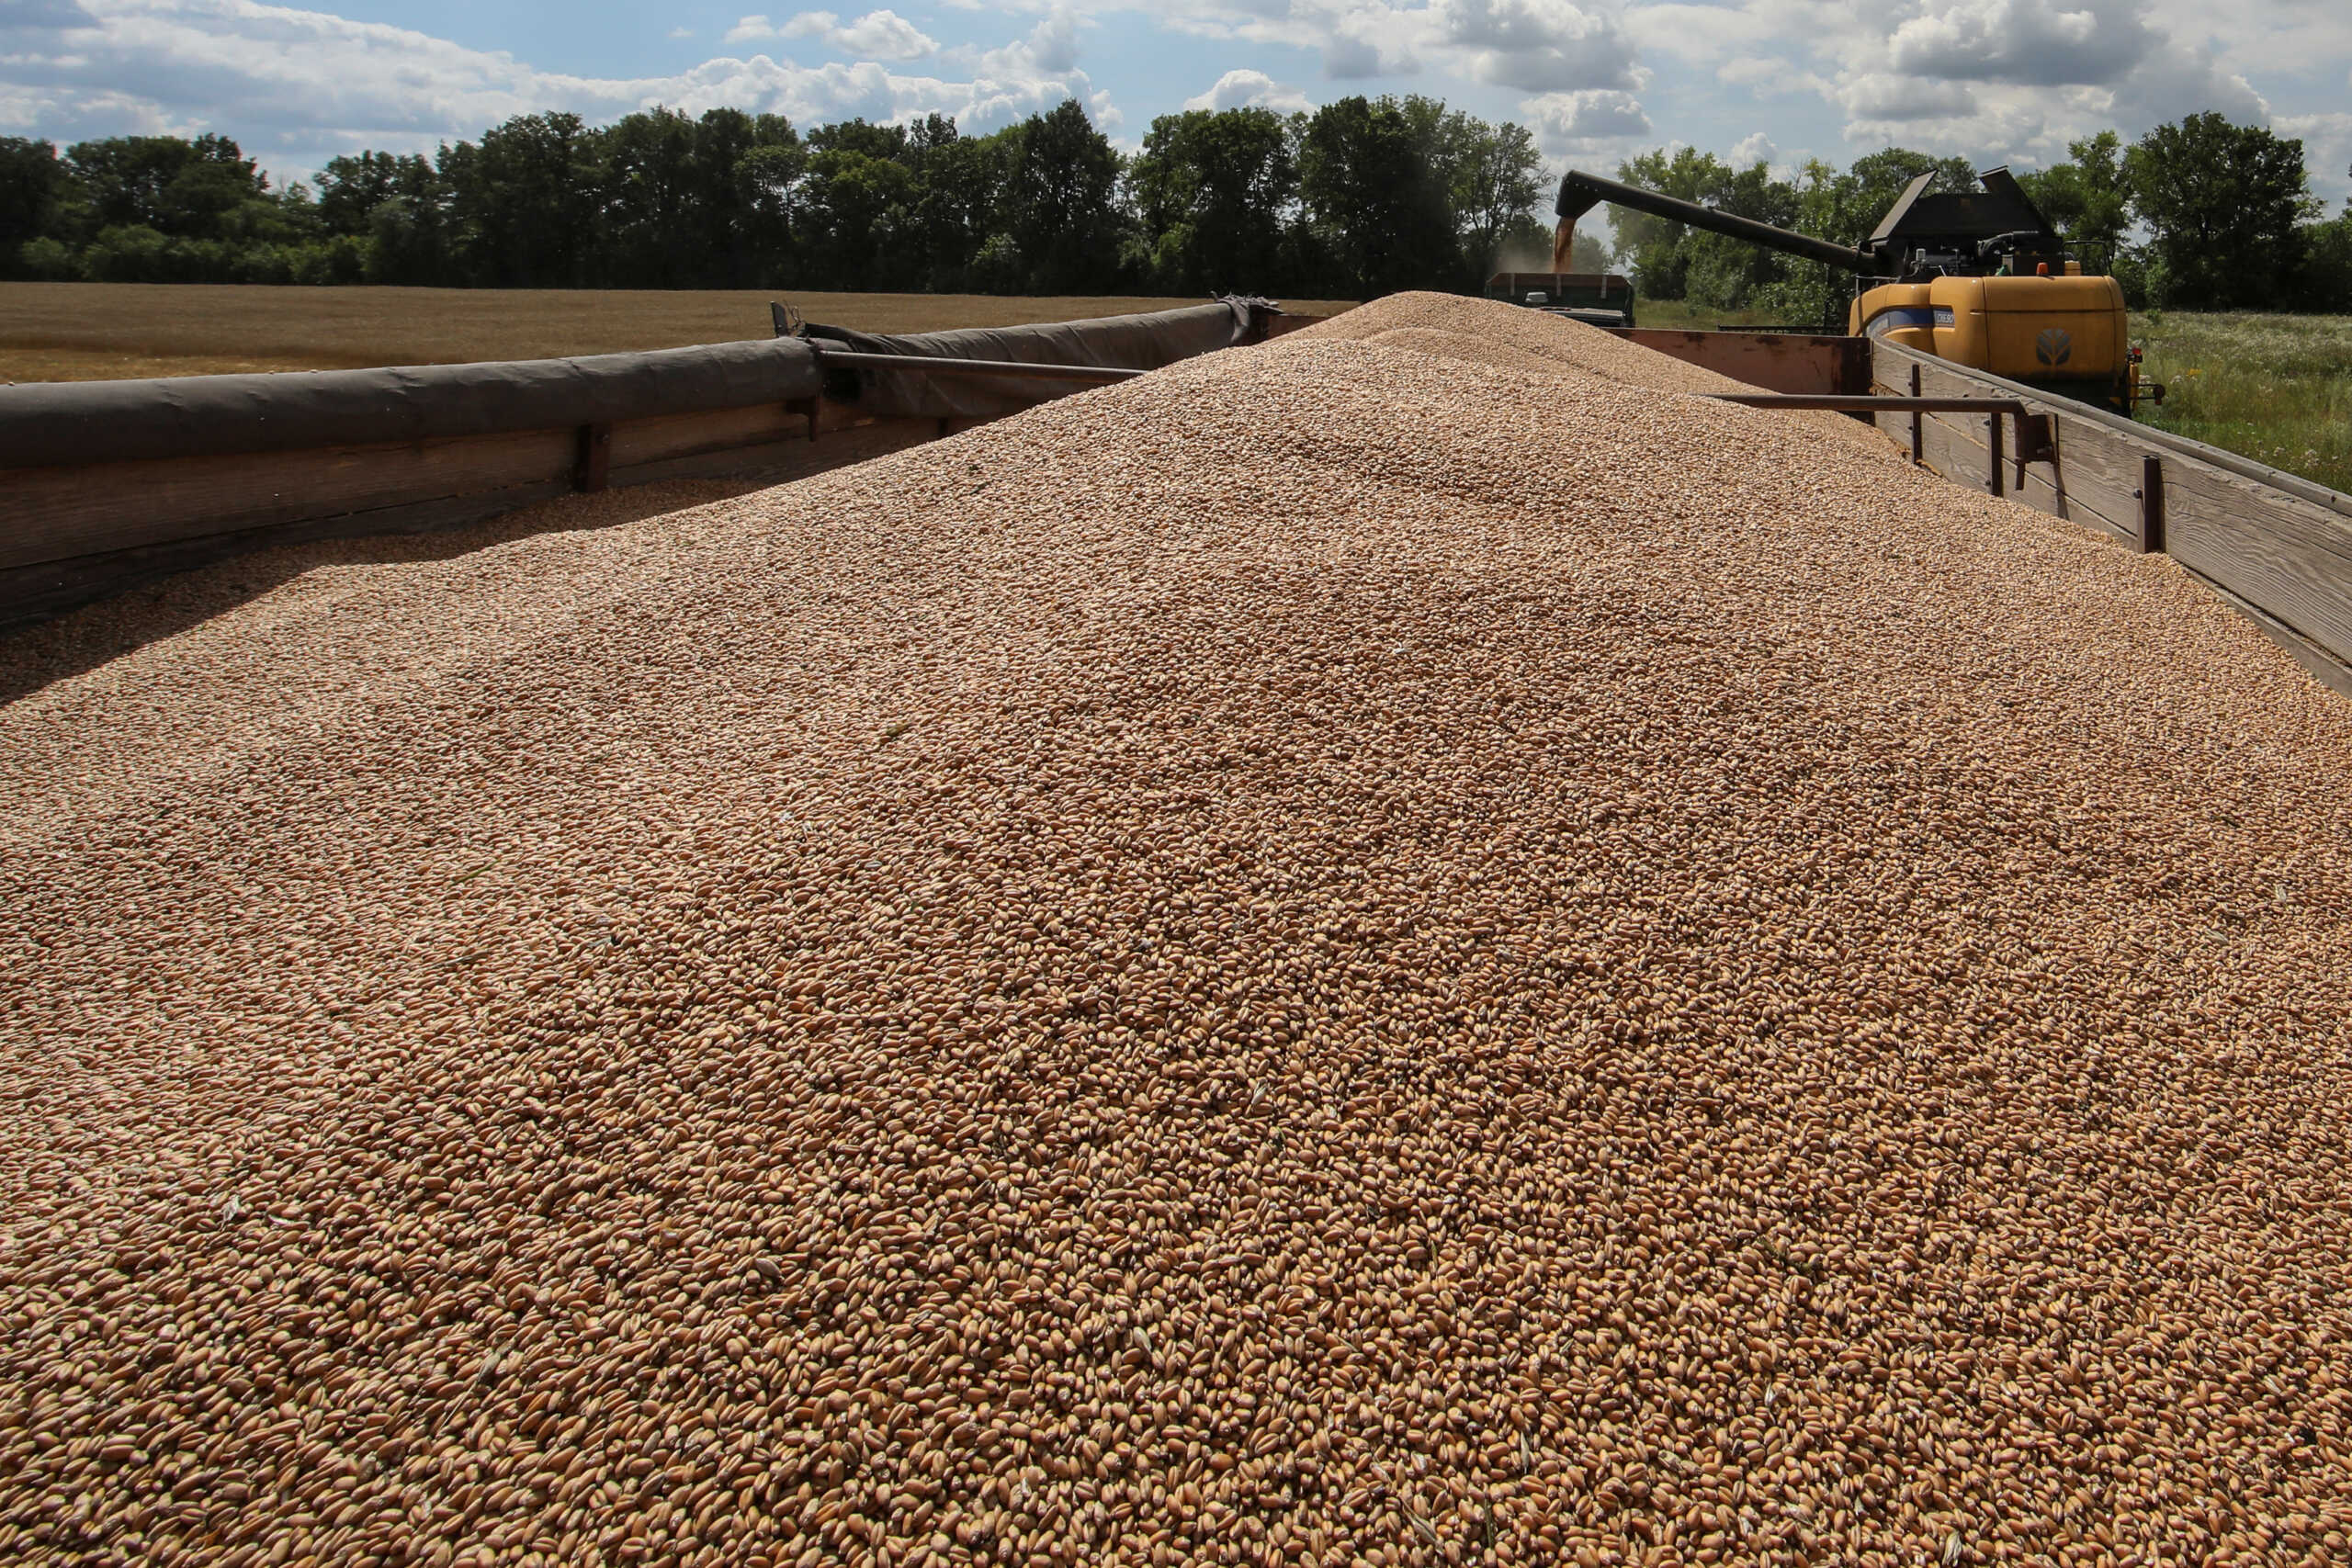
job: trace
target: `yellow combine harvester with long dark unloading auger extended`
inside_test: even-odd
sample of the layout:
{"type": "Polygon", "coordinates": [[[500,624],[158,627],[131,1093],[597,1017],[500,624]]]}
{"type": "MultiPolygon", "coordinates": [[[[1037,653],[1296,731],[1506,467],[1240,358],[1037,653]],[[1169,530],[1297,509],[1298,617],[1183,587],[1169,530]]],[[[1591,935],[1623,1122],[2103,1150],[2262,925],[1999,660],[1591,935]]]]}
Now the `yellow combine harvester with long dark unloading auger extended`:
{"type": "MultiPolygon", "coordinates": [[[[1929,179],[1915,179],[1853,247],[1571,169],[1559,181],[1557,244],[1599,202],[1748,240],[1853,273],[1849,334],[2136,411],[2140,355],[2124,289],[2112,277],[2084,277],[2009,169],[1978,174],[1985,188],[1969,195],[1929,195],[1929,179]]],[[[2150,395],[2161,400],[2164,388],[2150,395]]]]}

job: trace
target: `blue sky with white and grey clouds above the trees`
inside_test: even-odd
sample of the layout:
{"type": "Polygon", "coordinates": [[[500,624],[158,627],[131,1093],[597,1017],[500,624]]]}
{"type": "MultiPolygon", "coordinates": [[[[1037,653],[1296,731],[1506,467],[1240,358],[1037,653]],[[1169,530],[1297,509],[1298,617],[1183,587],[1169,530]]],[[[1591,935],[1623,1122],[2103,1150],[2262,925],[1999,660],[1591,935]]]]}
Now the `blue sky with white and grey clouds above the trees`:
{"type": "Polygon", "coordinates": [[[2331,209],[2352,195],[2352,0],[0,0],[0,134],[221,129],[282,179],[541,108],[995,129],[1075,96],[1134,146],[1185,106],[1357,92],[1522,120],[1597,169],[1677,141],[2037,167],[2218,108],[2303,136],[2331,209]]]}

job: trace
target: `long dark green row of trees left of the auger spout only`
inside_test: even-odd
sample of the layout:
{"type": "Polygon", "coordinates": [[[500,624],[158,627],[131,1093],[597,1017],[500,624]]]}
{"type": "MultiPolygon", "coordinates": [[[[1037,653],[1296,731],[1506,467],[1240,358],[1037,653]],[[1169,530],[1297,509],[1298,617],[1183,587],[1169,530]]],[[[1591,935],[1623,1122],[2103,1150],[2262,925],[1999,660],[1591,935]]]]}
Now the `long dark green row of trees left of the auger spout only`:
{"type": "Polygon", "coordinates": [[[0,268],[96,282],[374,282],[941,294],[1472,289],[1550,254],[1534,136],[1435,99],[1162,115],[1122,155],[1087,113],[955,120],[670,108],[517,115],[433,155],[273,186],[226,136],[0,139],[0,268]]]}

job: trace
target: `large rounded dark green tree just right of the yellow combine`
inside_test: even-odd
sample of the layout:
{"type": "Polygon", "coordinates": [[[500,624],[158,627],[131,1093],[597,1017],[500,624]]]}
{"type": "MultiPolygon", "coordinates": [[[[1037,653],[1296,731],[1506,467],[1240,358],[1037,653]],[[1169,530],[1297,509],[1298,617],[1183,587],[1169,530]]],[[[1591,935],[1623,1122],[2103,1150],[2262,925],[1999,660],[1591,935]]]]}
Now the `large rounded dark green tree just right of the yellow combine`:
{"type": "Polygon", "coordinates": [[[2201,113],[2159,125],[2124,155],[2131,209],[2150,230],[2161,306],[2260,310],[2298,275],[2298,228],[2319,216],[2303,143],[2201,113]]]}

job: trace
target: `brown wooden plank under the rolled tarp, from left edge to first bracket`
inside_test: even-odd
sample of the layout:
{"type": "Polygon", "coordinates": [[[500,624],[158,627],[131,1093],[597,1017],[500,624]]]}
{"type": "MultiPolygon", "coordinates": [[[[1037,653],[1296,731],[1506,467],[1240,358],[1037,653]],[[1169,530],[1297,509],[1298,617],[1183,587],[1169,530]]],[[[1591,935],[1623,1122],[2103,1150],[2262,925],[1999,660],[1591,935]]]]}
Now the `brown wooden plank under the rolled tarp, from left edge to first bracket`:
{"type": "MultiPolygon", "coordinates": [[[[390,447],[12,468],[0,567],[456,496],[572,484],[579,433],[522,430],[390,447]]],[[[517,503],[520,505],[520,503],[517,503]]]]}

